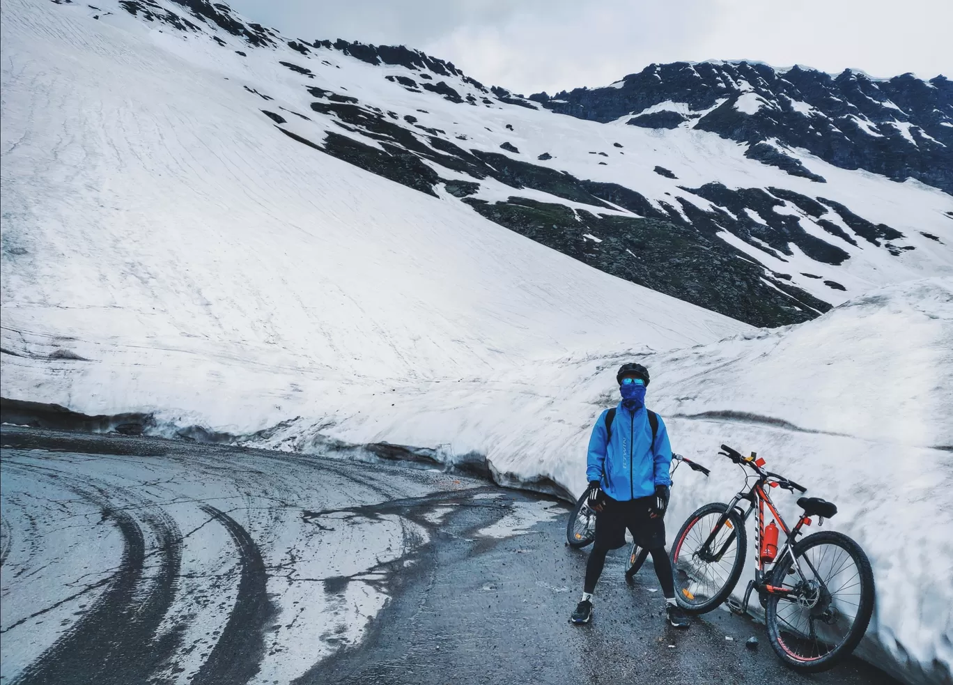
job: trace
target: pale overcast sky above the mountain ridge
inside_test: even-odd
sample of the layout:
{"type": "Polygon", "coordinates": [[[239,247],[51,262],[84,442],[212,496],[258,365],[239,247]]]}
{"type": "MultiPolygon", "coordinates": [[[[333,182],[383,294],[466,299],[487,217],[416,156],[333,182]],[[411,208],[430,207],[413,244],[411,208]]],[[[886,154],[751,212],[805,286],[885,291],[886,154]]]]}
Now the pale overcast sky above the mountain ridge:
{"type": "Polygon", "coordinates": [[[403,44],[529,94],[652,62],[754,59],[953,78],[953,0],[231,0],[288,37],[403,44]]]}

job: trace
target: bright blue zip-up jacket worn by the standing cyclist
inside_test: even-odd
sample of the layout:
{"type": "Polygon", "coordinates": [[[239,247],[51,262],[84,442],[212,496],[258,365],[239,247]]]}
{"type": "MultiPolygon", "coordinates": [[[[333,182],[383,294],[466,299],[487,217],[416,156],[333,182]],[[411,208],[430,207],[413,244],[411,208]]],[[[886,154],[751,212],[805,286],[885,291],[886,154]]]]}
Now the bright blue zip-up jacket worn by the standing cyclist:
{"type": "Polygon", "coordinates": [[[612,422],[612,439],[605,430],[601,413],[589,438],[586,480],[598,480],[602,490],[613,499],[625,501],[655,494],[657,485],[672,485],[668,475],[672,446],[668,431],[659,416],[659,431],[652,444],[652,426],[645,408],[629,412],[621,402],[612,422]]]}

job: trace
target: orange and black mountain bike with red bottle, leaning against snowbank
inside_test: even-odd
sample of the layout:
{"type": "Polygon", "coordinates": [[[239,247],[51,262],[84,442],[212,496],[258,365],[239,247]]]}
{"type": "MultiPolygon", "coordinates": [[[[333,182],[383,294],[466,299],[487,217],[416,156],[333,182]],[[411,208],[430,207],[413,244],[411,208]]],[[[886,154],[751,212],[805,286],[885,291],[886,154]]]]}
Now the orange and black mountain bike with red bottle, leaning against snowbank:
{"type": "Polygon", "coordinates": [[[798,540],[813,516],[820,528],[825,518],[837,514],[837,506],[820,497],[801,497],[803,514],[789,528],[767,489],[807,489],[765,471],[764,459],[755,453],[741,456],[727,445],[721,450],[720,455],[754,473],[745,472],[745,486],[731,502],[706,504],[681,527],[671,551],[679,606],[690,614],[704,614],[728,598],[744,566],[745,522],[757,510],[755,577],[732,609],[746,614],[757,591],[769,641],[781,660],[799,671],[825,671],[850,655],[867,630],[874,607],[870,561],[860,545],[841,533],[824,531],[798,540]],[[747,511],[742,501],[750,503],[747,511]],[[765,507],[774,516],[767,526],[765,507]],[[787,536],[781,546],[777,526],[787,536]]]}

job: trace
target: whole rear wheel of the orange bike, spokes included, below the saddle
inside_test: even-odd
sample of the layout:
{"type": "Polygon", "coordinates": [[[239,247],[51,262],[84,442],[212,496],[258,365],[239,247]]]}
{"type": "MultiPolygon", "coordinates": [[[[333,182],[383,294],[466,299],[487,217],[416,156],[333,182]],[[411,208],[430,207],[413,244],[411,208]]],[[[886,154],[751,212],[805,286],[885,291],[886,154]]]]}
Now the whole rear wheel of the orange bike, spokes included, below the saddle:
{"type": "Polygon", "coordinates": [[[874,574],[861,546],[844,534],[815,533],[794,546],[771,574],[765,621],[774,651],[799,671],[826,671],[860,643],[874,610],[874,574]]]}

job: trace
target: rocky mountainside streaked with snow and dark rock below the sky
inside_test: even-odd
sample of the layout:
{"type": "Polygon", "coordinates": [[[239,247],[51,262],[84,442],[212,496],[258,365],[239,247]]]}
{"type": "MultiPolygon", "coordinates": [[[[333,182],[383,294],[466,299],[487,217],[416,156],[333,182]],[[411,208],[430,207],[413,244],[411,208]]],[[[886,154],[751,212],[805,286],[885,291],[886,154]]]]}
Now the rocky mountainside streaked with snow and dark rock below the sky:
{"type": "Polygon", "coordinates": [[[61,10],[134,27],[227,77],[262,136],[274,126],[756,326],[953,272],[953,87],[943,76],[677,63],[525,98],[418,50],[289,38],[206,0],[61,10]]]}

